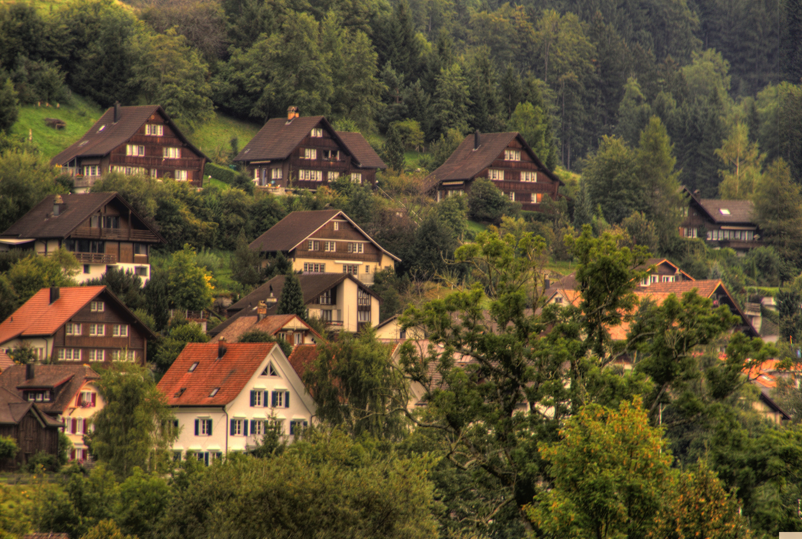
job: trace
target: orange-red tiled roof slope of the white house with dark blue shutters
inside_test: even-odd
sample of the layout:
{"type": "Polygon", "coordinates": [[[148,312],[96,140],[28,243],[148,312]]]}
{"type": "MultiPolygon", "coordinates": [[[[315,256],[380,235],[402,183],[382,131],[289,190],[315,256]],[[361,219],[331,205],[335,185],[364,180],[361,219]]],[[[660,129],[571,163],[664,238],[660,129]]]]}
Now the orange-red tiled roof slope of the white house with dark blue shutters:
{"type": "Polygon", "coordinates": [[[219,342],[188,342],[157,387],[171,406],[225,406],[237,398],[275,342],[232,342],[218,358],[219,342]],[[189,372],[192,363],[197,367],[189,372]],[[214,396],[209,396],[219,388],[214,396]],[[183,391],[181,391],[183,390],[183,391]]]}

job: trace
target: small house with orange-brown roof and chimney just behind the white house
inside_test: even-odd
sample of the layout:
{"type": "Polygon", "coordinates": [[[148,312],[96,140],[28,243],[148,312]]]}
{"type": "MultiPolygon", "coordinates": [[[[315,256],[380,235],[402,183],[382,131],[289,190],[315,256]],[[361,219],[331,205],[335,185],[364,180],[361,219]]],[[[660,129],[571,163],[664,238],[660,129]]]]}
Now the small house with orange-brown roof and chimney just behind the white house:
{"type": "Polygon", "coordinates": [[[260,330],[273,337],[283,338],[294,346],[314,344],[318,339],[324,340],[322,335],[313,330],[298,314],[268,315],[265,302],[241,310],[232,318],[213,327],[209,334],[213,337],[211,342],[219,340],[237,342],[242,334],[251,330],[260,330]]]}

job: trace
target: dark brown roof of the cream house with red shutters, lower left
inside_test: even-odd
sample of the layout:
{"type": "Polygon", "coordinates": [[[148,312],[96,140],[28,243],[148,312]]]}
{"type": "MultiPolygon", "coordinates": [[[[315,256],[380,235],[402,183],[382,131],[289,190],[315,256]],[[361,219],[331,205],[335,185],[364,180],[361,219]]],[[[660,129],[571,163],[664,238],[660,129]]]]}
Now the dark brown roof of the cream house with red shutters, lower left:
{"type": "Polygon", "coordinates": [[[23,388],[41,387],[55,389],[55,399],[49,403],[37,403],[44,412],[56,415],[75,402],[75,395],[88,380],[100,376],[86,365],[34,365],[34,378],[25,379],[26,366],[14,365],[0,373],[0,387],[22,397],[23,388]]]}

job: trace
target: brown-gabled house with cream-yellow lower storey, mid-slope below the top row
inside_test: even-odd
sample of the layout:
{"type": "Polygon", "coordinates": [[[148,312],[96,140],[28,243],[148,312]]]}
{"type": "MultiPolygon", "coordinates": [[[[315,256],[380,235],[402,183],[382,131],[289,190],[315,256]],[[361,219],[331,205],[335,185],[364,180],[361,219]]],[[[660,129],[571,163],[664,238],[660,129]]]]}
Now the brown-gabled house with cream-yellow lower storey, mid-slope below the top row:
{"type": "Polygon", "coordinates": [[[265,257],[283,253],[295,271],[352,274],[368,285],[375,272],[401,261],[338,209],[290,213],[249,247],[265,257]]]}

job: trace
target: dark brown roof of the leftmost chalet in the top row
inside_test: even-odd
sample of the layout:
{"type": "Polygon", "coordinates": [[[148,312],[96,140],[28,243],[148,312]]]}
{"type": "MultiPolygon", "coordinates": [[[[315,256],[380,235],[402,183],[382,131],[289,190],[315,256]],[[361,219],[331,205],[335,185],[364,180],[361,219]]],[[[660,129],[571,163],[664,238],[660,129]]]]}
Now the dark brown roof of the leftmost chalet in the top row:
{"type": "Polygon", "coordinates": [[[114,148],[125,144],[136,132],[147,122],[151,116],[158,112],[176,134],[181,142],[199,156],[209,160],[201,150],[196,148],[187,138],[176,128],[167,112],[159,105],[141,105],[138,107],[119,107],[119,121],[114,122],[114,107],[108,107],[100,116],[100,120],[87,131],[75,144],[72,144],[59,155],[51,159],[51,165],[65,165],[75,157],[105,156],[114,148]],[[103,128],[101,131],[100,129],[103,128]]]}

